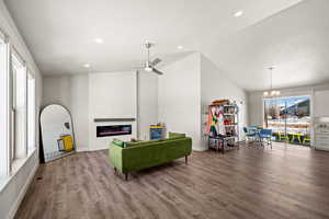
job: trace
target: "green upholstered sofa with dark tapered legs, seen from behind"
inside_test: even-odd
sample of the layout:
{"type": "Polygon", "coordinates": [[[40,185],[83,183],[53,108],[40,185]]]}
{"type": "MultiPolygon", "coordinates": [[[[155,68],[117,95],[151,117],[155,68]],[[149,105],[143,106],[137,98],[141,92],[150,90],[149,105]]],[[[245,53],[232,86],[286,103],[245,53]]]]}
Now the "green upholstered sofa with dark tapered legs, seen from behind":
{"type": "Polygon", "coordinates": [[[174,159],[184,158],[192,152],[192,139],[174,137],[163,140],[126,142],[126,146],[110,145],[110,163],[115,171],[125,174],[143,169],[160,165],[174,159]]]}

